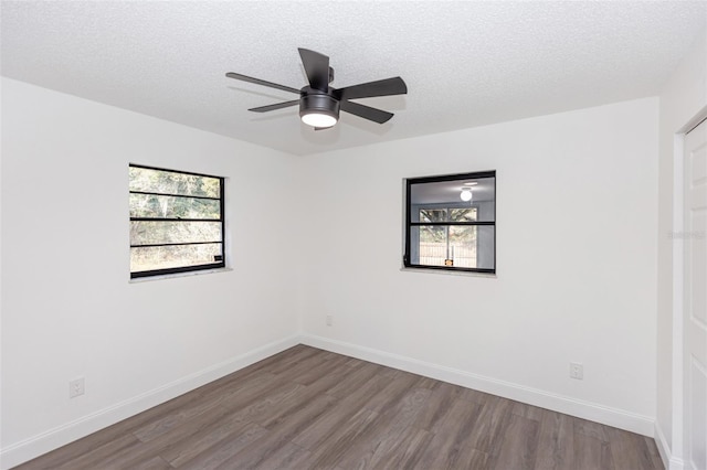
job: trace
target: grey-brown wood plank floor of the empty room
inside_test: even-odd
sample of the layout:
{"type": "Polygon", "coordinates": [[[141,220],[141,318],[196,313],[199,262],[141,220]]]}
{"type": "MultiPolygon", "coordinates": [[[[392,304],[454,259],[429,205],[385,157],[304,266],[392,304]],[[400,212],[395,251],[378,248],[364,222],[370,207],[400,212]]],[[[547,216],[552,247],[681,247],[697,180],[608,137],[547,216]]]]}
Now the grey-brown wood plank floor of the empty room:
{"type": "Polygon", "coordinates": [[[18,469],[663,469],[632,432],[298,345],[18,469]]]}

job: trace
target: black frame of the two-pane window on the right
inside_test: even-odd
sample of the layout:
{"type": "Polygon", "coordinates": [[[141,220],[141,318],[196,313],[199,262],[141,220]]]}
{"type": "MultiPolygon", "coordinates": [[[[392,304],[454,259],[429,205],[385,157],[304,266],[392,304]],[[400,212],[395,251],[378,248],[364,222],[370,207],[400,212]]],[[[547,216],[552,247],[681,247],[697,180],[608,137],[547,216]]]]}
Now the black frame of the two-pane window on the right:
{"type": "Polygon", "coordinates": [[[407,178],[405,179],[405,236],[404,236],[404,253],[403,253],[403,267],[405,268],[414,268],[414,269],[432,269],[432,270],[442,270],[442,271],[463,271],[463,273],[478,273],[478,274],[496,274],[496,170],[489,171],[477,171],[472,173],[455,173],[455,174],[443,174],[443,175],[434,175],[434,177],[422,177],[422,178],[407,178]],[[463,183],[468,180],[478,180],[484,178],[493,178],[494,179],[494,220],[493,221],[474,221],[474,222],[412,222],[412,186],[414,184],[423,184],[423,183],[439,183],[445,181],[458,181],[463,183]],[[420,265],[411,263],[411,233],[413,227],[420,226],[493,226],[494,227],[494,267],[493,268],[467,268],[467,267],[458,267],[458,266],[431,266],[431,265],[420,265]]]}

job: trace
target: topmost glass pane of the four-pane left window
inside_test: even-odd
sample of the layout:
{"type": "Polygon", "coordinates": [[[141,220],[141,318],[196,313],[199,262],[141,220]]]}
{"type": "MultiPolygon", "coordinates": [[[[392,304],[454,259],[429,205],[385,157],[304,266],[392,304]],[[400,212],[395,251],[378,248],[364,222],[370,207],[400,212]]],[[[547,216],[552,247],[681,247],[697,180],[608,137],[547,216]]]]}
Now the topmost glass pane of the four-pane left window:
{"type": "Polygon", "coordinates": [[[130,167],[130,191],[220,197],[218,178],[130,167]]]}

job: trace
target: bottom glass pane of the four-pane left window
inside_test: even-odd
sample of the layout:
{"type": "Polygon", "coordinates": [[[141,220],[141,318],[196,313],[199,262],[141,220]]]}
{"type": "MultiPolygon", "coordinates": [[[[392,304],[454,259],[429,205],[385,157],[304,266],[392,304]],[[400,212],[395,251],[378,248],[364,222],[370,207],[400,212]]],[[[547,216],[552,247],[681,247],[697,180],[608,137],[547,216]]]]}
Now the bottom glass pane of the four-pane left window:
{"type": "Polygon", "coordinates": [[[215,257],[221,255],[221,249],[220,243],[130,248],[130,271],[218,265],[221,261],[215,257]]]}

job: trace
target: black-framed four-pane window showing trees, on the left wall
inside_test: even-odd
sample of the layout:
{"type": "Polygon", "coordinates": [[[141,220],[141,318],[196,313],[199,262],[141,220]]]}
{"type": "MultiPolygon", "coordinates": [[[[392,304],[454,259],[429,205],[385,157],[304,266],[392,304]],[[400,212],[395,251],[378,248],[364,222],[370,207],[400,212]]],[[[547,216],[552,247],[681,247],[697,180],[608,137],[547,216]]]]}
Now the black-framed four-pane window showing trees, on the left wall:
{"type": "Polygon", "coordinates": [[[130,164],[130,277],[225,266],[223,178],[130,164]]]}

